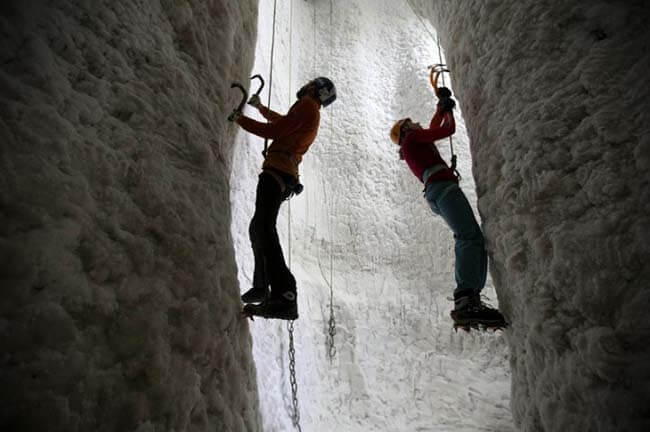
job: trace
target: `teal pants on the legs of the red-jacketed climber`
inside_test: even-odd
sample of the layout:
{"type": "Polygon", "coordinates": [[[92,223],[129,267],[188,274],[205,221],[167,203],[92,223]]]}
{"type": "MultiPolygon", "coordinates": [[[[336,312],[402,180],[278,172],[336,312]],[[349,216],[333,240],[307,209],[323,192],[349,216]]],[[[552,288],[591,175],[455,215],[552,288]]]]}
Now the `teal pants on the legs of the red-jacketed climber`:
{"type": "Polygon", "coordinates": [[[429,185],[426,196],[431,209],[442,216],[454,233],[454,298],[478,296],[485,285],[487,252],[472,207],[460,187],[451,182],[429,185]]]}

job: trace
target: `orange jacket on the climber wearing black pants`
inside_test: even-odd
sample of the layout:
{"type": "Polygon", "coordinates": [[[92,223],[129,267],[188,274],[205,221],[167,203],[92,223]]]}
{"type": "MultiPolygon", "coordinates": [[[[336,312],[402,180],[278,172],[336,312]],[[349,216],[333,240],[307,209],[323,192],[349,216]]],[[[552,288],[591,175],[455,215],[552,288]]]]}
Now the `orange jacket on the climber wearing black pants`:
{"type": "Polygon", "coordinates": [[[237,123],[252,134],[273,140],[262,169],[275,168],[297,178],[302,155],[318,133],[320,105],[312,98],[303,96],[291,106],[287,115],[266,107],[260,107],[260,113],[270,123],[260,123],[243,115],[237,123]]]}

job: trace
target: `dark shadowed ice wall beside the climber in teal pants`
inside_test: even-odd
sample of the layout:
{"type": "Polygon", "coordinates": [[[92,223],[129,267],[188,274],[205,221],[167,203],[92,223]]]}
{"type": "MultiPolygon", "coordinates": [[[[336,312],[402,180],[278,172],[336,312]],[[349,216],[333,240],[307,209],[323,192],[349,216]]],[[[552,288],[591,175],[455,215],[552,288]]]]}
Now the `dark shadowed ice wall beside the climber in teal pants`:
{"type": "Polygon", "coordinates": [[[650,428],[647,2],[420,2],[465,115],[525,431],[650,428]]]}

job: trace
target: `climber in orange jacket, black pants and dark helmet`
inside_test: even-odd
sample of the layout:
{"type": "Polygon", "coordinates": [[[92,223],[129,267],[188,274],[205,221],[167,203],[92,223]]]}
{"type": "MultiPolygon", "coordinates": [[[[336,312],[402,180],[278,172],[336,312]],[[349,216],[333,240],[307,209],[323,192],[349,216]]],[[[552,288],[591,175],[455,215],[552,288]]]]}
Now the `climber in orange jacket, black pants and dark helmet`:
{"type": "Polygon", "coordinates": [[[263,106],[259,96],[252,96],[248,103],[269,123],[255,121],[237,110],[229,117],[246,131],[273,140],[265,154],[249,227],[255,272],[253,287],[242,295],[247,303],[244,314],[249,316],[298,318],[296,279],[284,261],[276,221],[282,201],[302,188],[298,165],[318,133],[320,108],[334,102],[336,88],[328,78],[319,77],[305,84],[296,97],[289,112],[281,115],[263,106]]]}

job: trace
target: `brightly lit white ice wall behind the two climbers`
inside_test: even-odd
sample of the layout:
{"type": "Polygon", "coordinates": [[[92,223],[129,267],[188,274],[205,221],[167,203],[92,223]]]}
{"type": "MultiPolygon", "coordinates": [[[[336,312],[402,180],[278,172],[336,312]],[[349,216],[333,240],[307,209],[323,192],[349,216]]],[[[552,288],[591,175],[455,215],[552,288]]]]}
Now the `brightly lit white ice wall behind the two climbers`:
{"type": "MultiPolygon", "coordinates": [[[[267,89],[273,3],[260,2],[253,68],[267,77],[267,89]]],[[[453,332],[451,233],[388,138],[398,118],[426,124],[434,111],[426,69],[438,62],[433,29],[405,1],[392,0],[278,0],[275,29],[273,109],[286,112],[297,89],[318,75],[331,77],[339,92],[321,110],[318,138],[301,165],[305,191],[290,201],[290,213],[283,206],[278,222],[298,280],[303,430],[512,430],[505,340],[453,332]],[[331,360],[330,285],[337,331],[331,360]]],[[[462,120],[458,129],[462,187],[474,202],[462,120]]],[[[252,279],[248,222],[262,148],[263,140],[242,133],[234,159],[242,290],[252,279]]],[[[440,149],[448,159],[448,143],[440,149]]],[[[285,323],[258,319],[251,328],[264,430],[292,430],[285,323]]]]}

